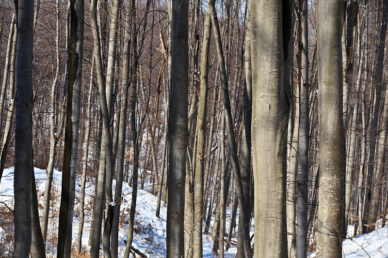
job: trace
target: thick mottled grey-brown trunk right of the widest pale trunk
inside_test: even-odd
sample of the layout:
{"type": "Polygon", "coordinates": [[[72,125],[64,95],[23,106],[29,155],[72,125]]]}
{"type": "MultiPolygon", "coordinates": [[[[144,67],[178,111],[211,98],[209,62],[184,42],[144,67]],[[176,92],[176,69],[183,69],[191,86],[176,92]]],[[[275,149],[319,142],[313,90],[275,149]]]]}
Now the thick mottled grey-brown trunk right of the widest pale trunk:
{"type": "Polygon", "coordinates": [[[345,150],[342,117],[341,0],[317,4],[319,213],[317,257],[341,257],[345,150]]]}

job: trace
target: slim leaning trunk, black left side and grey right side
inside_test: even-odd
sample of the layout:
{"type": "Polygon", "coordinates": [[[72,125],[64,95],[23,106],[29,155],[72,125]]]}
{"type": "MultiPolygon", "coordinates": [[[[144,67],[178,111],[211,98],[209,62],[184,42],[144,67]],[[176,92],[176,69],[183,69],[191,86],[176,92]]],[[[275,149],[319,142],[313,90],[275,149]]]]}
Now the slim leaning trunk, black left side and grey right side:
{"type": "Polygon", "coordinates": [[[78,134],[80,126],[83,10],[83,0],[70,1],[69,73],[67,77],[67,110],[62,195],[58,226],[58,258],[69,257],[71,253],[78,134]]]}

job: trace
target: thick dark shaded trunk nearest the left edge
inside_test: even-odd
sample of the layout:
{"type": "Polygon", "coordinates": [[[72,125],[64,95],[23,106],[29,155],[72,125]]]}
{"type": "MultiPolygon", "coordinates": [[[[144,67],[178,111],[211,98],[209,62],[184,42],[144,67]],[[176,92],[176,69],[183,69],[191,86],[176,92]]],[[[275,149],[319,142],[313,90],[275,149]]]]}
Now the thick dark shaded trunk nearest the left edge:
{"type": "MultiPolygon", "coordinates": [[[[32,238],[32,48],[33,1],[14,2],[17,16],[14,258],[29,257],[32,238]]],[[[12,37],[10,37],[11,40],[12,37]]],[[[2,106],[2,104],[1,104],[2,106]]]]}

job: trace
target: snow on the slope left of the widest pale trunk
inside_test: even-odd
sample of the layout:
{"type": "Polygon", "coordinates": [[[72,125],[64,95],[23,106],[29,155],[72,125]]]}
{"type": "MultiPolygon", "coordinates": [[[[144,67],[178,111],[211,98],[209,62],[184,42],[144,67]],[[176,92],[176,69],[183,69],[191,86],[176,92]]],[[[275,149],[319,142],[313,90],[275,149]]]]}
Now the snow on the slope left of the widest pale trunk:
{"type": "MultiPolygon", "coordinates": [[[[46,170],[34,168],[35,171],[35,181],[38,190],[38,201],[40,204],[43,203],[43,194],[45,189],[46,182],[46,170]]],[[[56,242],[49,243],[50,235],[55,240],[55,236],[58,232],[58,216],[59,216],[59,206],[60,206],[60,189],[62,181],[62,173],[57,169],[54,169],[53,174],[53,183],[52,183],[52,195],[53,200],[50,202],[50,221],[48,229],[48,244],[47,257],[53,258],[56,257],[56,242]]],[[[114,192],[115,181],[113,180],[113,192],[114,192]]],[[[139,183],[140,186],[140,183],[139,183]]],[[[149,191],[148,185],[145,185],[145,189],[149,191]]],[[[90,225],[92,219],[92,202],[91,197],[94,195],[94,179],[88,178],[86,182],[85,189],[85,222],[82,234],[82,245],[84,248],[89,250],[88,240],[90,233],[90,225]]],[[[161,206],[160,218],[158,218],[156,213],[156,204],[157,197],[151,195],[145,190],[137,190],[137,202],[136,202],[136,215],[135,215],[135,232],[133,236],[132,246],[147,257],[166,257],[166,219],[167,219],[167,208],[161,206]]],[[[131,192],[132,188],[129,187],[128,183],[123,182],[122,189],[122,203],[120,207],[120,225],[119,225],[119,257],[123,257],[128,233],[128,221],[129,221],[129,208],[131,202],[131,192]]],[[[74,207],[74,218],[73,218],[73,231],[72,231],[72,240],[73,244],[76,243],[79,227],[79,201],[81,193],[81,177],[77,176],[76,182],[76,199],[74,207]]],[[[0,202],[4,202],[7,205],[13,205],[14,201],[14,167],[4,169],[3,176],[1,178],[0,184],[0,202]]],[[[1,203],[0,203],[1,204],[1,203]]],[[[43,212],[43,208],[39,209],[40,215],[43,212]]],[[[227,212],[230,214],[230,211],[227,212]]],[[[226,218],[226,230],[229,227],[229,218],[226,218]]],[[[212,217],[213,225],[214,216],[212,217]]],[[[0,227],[0,236],[3,229],[0,227]]],[[[211,227],[210,227],[211,232],[211,227]]],[[[253,233],[253,231],[251,232],[253,233]]],[[[0,239],[1,240],[1,239],[0,239]]],[[[237,242],[236,238],[232,239],[237,242]]],[[[102,249],[102,246],[101,246],[102,249]]],[[[235,257],[237,248],[231,246],[227,252],[225,252],[225,257],[235,257]]],[[[102,250],[100,251],[102,255],[102,250]]],[[[212,253],[212,241],[210,234],[203,234],[203,257],[214,257],[212,253]]]]}

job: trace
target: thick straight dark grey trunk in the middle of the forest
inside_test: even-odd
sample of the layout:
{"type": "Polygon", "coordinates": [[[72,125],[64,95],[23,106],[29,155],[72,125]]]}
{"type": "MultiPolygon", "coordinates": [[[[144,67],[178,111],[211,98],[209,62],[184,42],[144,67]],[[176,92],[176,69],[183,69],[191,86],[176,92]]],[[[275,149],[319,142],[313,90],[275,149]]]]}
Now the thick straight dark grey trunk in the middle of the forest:
{"type": "Polygon", "coordinates": [[[169,161],[167,170],[167,257],[184,255],[183,218],[188,135],[188,8],[187,0],[168,1],[171,23],[171,106],[168,124],[169,161]]]}

